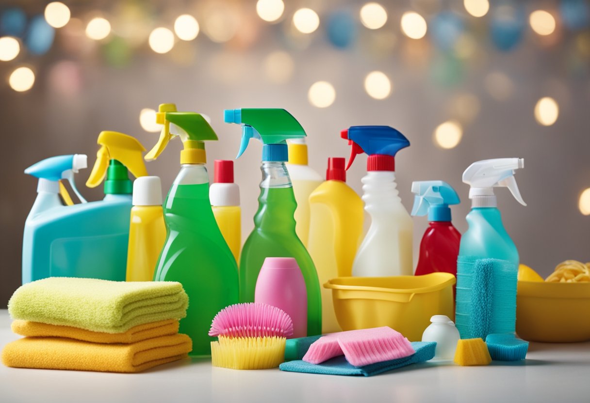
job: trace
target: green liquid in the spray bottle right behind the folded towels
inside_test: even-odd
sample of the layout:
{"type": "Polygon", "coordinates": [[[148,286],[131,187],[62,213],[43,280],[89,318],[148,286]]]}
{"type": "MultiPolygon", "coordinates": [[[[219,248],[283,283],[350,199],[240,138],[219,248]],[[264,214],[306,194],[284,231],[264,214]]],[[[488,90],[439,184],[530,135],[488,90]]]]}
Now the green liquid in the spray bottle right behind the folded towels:
{"type": "Polygon", "coordinates": [[[238,267],[209,202],[209,184],[173,184],[163,206],[167,236],[155,281],[178,281],[189,297],[180,333],[192,339],[191,355],[210,355],[211,321],[238,302],[238,267]]]}

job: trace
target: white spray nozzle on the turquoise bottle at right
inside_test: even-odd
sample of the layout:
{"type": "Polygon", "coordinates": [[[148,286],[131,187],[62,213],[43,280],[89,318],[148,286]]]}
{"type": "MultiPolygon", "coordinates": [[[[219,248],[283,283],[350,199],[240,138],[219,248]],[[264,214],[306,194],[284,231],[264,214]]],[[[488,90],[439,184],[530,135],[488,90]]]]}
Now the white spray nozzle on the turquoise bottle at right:
{"type": "MultiPolygon", "coordinates": [[[[471,186],[469,198],[494,196],[494,187],[507,187],[514,199],[526,206],[514,179],[514,170],[524,167],[523,158],[496,158],[471,164],[463,173],[463,182],[471,186]]],[[[495,206],[495,199],[491,203],[495,206]]],[[[487,204],[481,206],[484,207],[487,204]]]]}

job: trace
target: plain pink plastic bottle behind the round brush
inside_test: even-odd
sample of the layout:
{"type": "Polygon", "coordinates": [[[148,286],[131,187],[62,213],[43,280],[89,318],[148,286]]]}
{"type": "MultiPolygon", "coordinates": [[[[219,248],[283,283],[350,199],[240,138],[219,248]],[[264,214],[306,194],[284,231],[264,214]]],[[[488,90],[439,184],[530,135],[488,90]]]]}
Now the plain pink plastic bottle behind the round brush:
{"type": "Polygon", "coordinates": [[[307,290],[293,257],[267,257],[256,280],[254,302],[283,309],[293,321],[293,336],[307,336],[307,290]]]}

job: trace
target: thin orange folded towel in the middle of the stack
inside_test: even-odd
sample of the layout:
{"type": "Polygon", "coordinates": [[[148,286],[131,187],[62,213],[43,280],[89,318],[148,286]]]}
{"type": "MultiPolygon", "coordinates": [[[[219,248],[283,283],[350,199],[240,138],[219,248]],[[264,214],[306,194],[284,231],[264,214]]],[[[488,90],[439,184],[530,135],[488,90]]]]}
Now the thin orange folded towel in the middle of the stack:
{"type": "Polygon", "coordinates": [[[178,333],[178,321],[169,319],[135,326],[124,333],[92,332],[71,326],[48,325],[41,322],[21,321],[12,322],[12,332],[29,337],[66,337],[93,343],[135,343],[159,336],[178,333]]]}

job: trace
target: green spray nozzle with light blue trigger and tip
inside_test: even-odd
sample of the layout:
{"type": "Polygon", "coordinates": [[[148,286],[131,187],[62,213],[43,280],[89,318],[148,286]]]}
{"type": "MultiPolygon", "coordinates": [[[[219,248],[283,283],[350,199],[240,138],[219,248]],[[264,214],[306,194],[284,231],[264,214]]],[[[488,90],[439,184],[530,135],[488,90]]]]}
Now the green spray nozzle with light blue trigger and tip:
{"type": "MultiPolygon", "coordinates": [[[[278,108],[242,108],[226,109],[225,123],[242,125],[242,141],[239,158],[248,147],[250,138],[257,138],[264,145],[285,144],[291,138],[306,137],[301,124],[289,112],[278,108]]],[[[283,158],[280,156],[279,158],[283,158]]],[[[264,159],[264,158],[263,158],[264,159]]],[[[280,161],[278,159],[277,161],[280,161]]]]}

